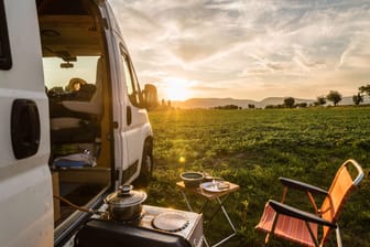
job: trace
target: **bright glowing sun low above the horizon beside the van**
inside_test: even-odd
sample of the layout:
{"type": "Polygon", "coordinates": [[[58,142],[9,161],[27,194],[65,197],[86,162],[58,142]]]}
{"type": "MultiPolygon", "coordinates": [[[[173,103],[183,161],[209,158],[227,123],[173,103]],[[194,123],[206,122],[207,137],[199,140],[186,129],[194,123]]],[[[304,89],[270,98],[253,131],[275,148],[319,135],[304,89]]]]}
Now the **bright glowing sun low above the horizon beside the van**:
{"type": "Polygon", "coordinates": [[[165,98],[183,101],[192,97],[191,87],[194,84],[193,82],[184,78],[165,78],[163,83],[165,98]]]}

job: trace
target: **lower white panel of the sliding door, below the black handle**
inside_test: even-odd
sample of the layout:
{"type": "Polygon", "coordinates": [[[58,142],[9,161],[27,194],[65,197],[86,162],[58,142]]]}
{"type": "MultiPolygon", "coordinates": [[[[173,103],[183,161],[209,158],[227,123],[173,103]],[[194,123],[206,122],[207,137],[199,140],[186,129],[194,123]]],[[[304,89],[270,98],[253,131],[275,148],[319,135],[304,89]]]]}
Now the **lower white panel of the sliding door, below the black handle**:
{"type": "Polygon", "coordinates": [[[1,180],[0,187],[0,245],[52,246],[53,194],[48,168],[24,168],[23,172],[1,180]]]}

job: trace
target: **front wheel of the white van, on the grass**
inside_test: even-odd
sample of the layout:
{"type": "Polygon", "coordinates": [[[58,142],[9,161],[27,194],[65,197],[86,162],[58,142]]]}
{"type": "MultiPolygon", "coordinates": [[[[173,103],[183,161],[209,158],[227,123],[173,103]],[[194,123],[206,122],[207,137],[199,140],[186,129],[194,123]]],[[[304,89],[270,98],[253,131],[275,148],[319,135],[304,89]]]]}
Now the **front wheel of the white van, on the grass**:
{"type": "Polygon", "coordinates": [[[135,187],[146,187],[153,176],[153,154],[149,142],[145,142],[139,178],[135,187]]]}

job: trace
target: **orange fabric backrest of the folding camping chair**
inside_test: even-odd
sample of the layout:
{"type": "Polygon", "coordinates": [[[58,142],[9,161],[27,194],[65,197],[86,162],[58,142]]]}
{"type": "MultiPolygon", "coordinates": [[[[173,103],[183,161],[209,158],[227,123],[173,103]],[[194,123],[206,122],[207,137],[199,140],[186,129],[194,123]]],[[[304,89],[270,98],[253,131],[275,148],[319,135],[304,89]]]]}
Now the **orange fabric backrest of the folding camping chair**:
{"type": "MultiPolygon", "coordinates": [[[[320,212],[322,217],[328,222],[335,223],[338,219],[339,213],[352,189],[362,180],[363,171],[355,160],[347,160],[337,171],[334,181],[328,191],[328,195],[323,202],[320,212]],[[356,168],[358,174],[353,180],[349,173],[349,165],[356,168]]],[[[322,244],[329,235],[329,227],[324,227],[322,244]]]]}

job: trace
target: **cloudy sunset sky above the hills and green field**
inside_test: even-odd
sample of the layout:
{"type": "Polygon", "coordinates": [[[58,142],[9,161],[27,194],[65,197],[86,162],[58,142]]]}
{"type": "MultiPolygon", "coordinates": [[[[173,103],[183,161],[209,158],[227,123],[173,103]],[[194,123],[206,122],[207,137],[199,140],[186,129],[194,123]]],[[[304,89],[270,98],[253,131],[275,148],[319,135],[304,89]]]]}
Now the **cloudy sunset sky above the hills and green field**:
{"type": "Polygon", "coordinates": [[[370,1],[109,0],[159,97],[315,99],[370,84],[370,1]]]}

